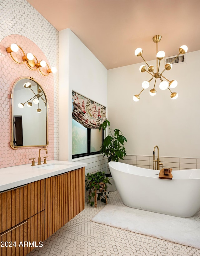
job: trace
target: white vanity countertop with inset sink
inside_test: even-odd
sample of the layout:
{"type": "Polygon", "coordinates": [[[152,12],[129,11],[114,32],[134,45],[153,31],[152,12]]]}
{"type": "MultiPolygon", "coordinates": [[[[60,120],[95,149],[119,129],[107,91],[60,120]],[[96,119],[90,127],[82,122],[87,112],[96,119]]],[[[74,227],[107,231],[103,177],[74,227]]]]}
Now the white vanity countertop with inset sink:
{"type": "Polygon", "coordinates": [[[50,160],[47,161],[47,164],[42,165],[37,165],[36,163],[35,166],[27,164],[1,168],[0,192],[22,186],[30,182],[76,170],[85,167],[86,165],[87,163],[50,160]],[[54,165],[55,168],[47,170],[50,165],[54,165]],[[63,165],[66,165],[66,168],[63,165]]]}

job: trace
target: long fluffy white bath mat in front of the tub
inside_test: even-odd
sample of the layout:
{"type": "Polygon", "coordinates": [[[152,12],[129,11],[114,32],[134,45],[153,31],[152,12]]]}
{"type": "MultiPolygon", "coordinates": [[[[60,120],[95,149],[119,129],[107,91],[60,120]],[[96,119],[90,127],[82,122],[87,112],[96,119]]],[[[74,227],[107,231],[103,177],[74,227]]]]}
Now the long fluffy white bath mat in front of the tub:
{"type": "Polygon", "coordinates": [[[200,221],[197,220],[106,205],[92,221],[200,249],[200,221]]]}

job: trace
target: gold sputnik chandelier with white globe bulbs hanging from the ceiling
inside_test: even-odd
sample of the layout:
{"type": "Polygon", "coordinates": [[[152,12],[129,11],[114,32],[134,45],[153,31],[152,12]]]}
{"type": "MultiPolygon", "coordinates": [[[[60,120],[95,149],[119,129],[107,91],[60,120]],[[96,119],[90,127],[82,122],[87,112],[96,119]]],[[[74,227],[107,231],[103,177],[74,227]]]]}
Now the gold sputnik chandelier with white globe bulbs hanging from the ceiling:
{"type": "MultiPolygon", "coordinates": [[[[142,59],[144,60],[144,62],[146,63],[146,65],[148,66],[148,70],[147,70],[147,66],[146,65],[141,65],[139,70],[140,72],[147,72],[149,73],[152,77],[149,79],[149,81],[143,81],[142,83],[142,91],[144,89],[147,89],[150,85],[150,82],[153,80],[153,78],[155,78],[155,82],[154,82],[154,86],[153,86],[153,89],[151,89],[149,91],[150,95],[151,96],[154,96],[156,95],[157,91],[155,89],[155,85],[156,85],[156,80],[159,79],[161,82],[159,84],[159,88],[161,90],[166,90],[168,89],[170,92],[171,92],[171,99],[177,99],[178,98],[178,93],[177,92],[172,92],[170,89],[172,88],[175,88],[178,84],[178,82],[176,80],[172,80],[172,81],[169,81],[166,77],[163,76],[163,72],[165,70],[171,70],[172,69],[172,63],[173,61],[180,55],[180,54],[185,54],[187,52],[187,46],[186,45],[182,45],[180,48],[179,48],[179,53],[176,57],[173,58],[173,60],[170,62],[170,63],[167,63],[165,64],[165,68],[164,70],[160,73],[159,69],[160,69],[160,61],[165,57],[165,52],[164,51],[159,51],[158,52],[158,43],[160,42],[162,36],[161,35],[155,35],[153,37],[153,42],[156,43],[156,61],[157,61],[157,67],[156,67],[156,71],[154,71],[154,66],[153,65],[148,65],[148,63],[146,62],[146,60],[144,60],[143,58],[143,50],[142,48],[137,48],[135,50],[135,55],[136,56],[141,56],[142,59]],[[158,60],[159,60],[159,63],[158,63],[158,60]],[[164,79],[164,80],[163,80],[164,79]]],[[[142,92],[141,91],[141,92],[142,92]]],[[[139,101],[140,99],[140,94],[135,94],[133,96],[133,100],[134,101],[139,101]]]]}

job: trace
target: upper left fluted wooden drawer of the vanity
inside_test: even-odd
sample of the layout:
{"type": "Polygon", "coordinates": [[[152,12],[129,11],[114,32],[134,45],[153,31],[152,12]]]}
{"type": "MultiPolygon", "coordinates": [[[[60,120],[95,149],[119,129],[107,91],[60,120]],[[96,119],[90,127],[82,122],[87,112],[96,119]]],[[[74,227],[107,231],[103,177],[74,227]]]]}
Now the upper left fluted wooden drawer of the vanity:
{"type": "Polygon", "coordinates": [[[0,194],[0,234],[44,210],[44,180],[0,194]]]}

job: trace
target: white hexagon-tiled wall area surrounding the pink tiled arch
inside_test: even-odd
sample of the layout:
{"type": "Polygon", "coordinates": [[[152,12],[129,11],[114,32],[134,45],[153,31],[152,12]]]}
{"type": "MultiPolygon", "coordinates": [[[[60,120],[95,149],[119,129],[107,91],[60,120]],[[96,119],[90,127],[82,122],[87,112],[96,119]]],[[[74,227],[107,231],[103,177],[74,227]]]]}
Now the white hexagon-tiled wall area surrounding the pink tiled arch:
{"type": "MultiPolygon", "coordinates": [[[[45,54],[50,66],[58,70],[58,30],[26,0],[0,0],[0,41],[10,34],[32,40],[45,54]]],[[[54,157],[58,160],[58,72],[53,77],[54,157]]]]}

